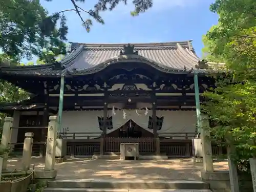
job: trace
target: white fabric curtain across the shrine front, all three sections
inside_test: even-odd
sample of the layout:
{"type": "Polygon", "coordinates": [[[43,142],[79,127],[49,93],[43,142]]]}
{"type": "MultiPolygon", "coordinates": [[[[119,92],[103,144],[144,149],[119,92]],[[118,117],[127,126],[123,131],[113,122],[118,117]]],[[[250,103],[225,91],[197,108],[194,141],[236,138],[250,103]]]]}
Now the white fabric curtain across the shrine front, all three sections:
{"type": "MultiPolygon", "coordinates": [[[[115,110],[116,115],[113,115],[112,110],[108,111],[108,116],[112,116],[113,129],[107,130],[107,133],[111,133],[119,129],[127,121],[132,119],[143,129],[153,132],[148,129],[148,118],[152,116],[152,111],[148,110],[145,115],[145,110],[124,110],[126,118],[123,118],[123,110],[115,110]]],[[[177,135],[172,133],[195,133],[196,131],[196,112],[195,111],[157,111],[158,117],[163,118],[163,125],[161,130],[158,131],[159,136],[170,137],[173,139],[184,139],[182,137],[175,137],[177,135]],[[169,134],[161,134],[169,133],[169,134]]],[[[62,127],[69,127],[69,132],[77,133],[83,132],[86,136],[99,136],[99,134],[90,133],[101,133],[99,129],[98,117],[103,117],[103,110],[101,111],[63,111],[62,112],[62,127]]],[[[93,137],[92,137],[93,138],[93,137]]],[[[190,137],[191,138],[191,137],[190,137]]],[[[76,139],[86,139],[86,137],[78,137],[76,139]]]]}

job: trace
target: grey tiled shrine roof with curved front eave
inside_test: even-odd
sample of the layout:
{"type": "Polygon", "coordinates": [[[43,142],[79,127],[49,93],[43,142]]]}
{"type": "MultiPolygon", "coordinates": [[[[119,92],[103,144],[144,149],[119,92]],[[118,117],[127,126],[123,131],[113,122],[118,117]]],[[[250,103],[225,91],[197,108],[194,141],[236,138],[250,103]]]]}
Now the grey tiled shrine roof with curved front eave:
{"type": "Polygon", "coordinates": [[[72,52],[63,58],[61,66],[54,64],[40,66],[1,67],[0,71],[23,75],[90,74],[104,69],[115,62],[141,61],[165,71],[174,72],[196,68],[197,57],[191,41],[131,44],[138,55],[121,55],[125,44],[78,44],[72,43],[72,52]]]}

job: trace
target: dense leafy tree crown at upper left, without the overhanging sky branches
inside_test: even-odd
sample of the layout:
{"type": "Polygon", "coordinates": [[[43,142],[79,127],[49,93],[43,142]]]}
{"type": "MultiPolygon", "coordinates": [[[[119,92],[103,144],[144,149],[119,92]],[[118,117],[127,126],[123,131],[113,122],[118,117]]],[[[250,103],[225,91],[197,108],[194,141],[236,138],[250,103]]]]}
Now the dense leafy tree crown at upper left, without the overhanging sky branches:
{"type": "Polygon", "coordinates": [[[0,2],[0,48],[13,60],[31,58],[32,55],[44,56],[42,49],[55,55],[66,54],[64,40],[67,40],[65,18],[59,15],[48,20],[47,11],[39,1],[3,0],[0,2]],[[62,26],[56,28],[57,20],[62,26]]]}

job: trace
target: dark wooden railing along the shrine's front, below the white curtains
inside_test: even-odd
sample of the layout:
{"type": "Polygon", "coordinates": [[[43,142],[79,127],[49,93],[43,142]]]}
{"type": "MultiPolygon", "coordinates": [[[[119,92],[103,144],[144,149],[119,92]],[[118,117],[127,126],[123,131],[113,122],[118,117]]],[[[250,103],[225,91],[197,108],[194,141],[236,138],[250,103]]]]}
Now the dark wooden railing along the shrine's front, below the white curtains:
{"type": "MultiPolygon", "coordinates": [[[[45,129],[47,127],[12,127],[12,129],[45,129]]],[[[85,133],[85,132],[68,132],[60,133],[66,138],[67,155],[74,157],[92,156],[99,153],[101,133],[85,133]]],[[[169,157],[190,157],[192,156],[191,138],[195,133],[161,133],[160,134],[160,153],[169,157]]],[[[120,143],[139,143],[140,153],[155,153],[156,145],[154,138],[104,138],[104,153],[120,152],[120,143]]],[[[14,149],[15,155],[22,154],[23,143],[10,143],[14,149]]],[[[33,143],[33,155],[39,155],[39,150],[45,145],[45,141],[33,143]]],[[[45,147],[44,147],[45,148],[45,147]]],[[[45,150],[45,149],[44,149],[45,150]]],[[[218,146],[212,142],[212,154],[225,154],[225,147],[218,146]]]]}

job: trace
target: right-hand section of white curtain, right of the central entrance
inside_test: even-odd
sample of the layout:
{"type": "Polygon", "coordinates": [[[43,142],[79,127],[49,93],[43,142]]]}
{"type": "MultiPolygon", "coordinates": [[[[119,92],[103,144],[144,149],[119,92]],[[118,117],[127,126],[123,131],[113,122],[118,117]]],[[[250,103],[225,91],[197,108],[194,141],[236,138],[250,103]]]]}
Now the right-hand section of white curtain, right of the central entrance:
{"type": "MultiPolygon", "coordinates": [[[[163,118],[162,129],[158,131],[159,136],[177,136],[177,134],[161,133],[195,133],[197,116],[196,111],[157,111],[157,116],[163,118]]],[[[192,138],[192,137],[191,137],[192,138]]],[[[184,139],[184,137],[173,137],[173,139],[184,139]]]]}

